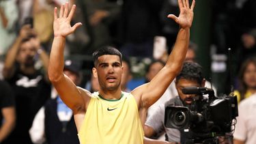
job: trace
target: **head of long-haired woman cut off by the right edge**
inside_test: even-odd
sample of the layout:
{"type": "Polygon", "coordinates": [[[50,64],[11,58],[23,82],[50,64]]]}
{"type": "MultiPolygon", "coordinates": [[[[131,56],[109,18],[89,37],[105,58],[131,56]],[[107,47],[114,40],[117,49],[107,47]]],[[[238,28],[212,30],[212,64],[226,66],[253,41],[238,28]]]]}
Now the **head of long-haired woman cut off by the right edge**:
{"type": "Polygon", "coordinates": [[[256,58],[246,59],[238,74],[238,89],[234,95],[238,97],[238,102],[248,98],[256,92],[256,58]]]}

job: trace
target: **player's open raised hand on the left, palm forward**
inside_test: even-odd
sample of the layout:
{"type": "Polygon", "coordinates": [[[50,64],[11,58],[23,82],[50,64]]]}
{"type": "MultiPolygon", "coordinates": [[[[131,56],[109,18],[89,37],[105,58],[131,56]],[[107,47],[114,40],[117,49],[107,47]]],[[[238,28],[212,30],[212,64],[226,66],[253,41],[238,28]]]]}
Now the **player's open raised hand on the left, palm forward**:
{"type": "Polygon", "coordinates": [[[68,10],[68,3],[61,5],[61,10],[59,12],[59,18],[57,17],[57,8],[54,9],[54,22],[53,31],[54,36],[66,37],[70,33],[73,33],[77,27],[81,26],[82,23],[76,23],[73,27],[70,25],[70,21],[74,16],[76,11],[76,5],[73,5],[70,12],[68,10]]]}

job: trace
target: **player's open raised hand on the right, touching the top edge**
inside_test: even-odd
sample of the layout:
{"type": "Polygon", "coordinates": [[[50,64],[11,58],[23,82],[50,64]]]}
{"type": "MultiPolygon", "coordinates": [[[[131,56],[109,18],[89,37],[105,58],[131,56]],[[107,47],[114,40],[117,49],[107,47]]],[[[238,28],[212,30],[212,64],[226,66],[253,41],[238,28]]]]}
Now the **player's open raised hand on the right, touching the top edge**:
{"type": "Polygon", "coordinates": [[[167,17],[175,20],[177,24],[180,25],[181,28],[190,28],[193,22],[194,17],[194,8],[195,8],[195,0],[193,0],[191,7],[189,6],[188,0],[178,0],[180,15],[179,17],[169,14],[167,17]]]}

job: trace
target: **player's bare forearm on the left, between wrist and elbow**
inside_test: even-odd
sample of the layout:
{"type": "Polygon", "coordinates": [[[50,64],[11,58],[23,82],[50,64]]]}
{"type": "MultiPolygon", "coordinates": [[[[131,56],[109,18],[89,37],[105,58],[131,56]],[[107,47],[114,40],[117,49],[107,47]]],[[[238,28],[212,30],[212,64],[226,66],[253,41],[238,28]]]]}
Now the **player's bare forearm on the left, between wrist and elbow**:
{"type": "Polygon", "coordinates": [[[63,74],[64,67],[64,46],[66,38],[55,37],[51,49],[50,61],[48,66],[48,76],[51,81],[56,81],[63,74]]]}

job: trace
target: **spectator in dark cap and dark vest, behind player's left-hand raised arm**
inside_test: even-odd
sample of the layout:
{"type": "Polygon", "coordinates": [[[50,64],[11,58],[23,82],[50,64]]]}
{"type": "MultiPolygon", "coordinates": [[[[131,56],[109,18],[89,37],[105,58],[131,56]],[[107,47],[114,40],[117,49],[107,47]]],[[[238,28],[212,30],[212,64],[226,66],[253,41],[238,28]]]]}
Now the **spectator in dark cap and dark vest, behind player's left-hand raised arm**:
{"type": "MultiPolygon", "coordinates": [[[[76,85],[81,83],[81,63],[72,59],[66,59],[64,74],[76,85]]],[[[57,96],[49,99],[38,111],[29,130],[33,143],[48,144],[79,144],[74,117],[71,109],[57,96]]]]}

